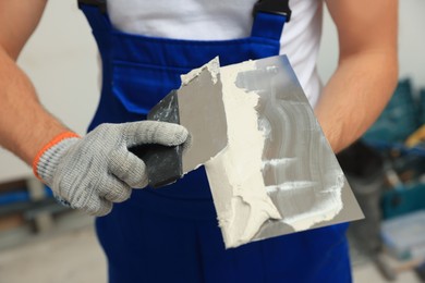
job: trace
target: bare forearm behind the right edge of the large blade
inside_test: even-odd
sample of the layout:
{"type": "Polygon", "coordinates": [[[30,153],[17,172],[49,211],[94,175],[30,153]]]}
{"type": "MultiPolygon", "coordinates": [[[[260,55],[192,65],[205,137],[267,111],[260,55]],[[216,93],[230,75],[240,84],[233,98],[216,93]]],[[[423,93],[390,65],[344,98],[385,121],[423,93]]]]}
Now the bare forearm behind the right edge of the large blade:
{"type": "Polygon", "coordinates": [[[397,78],[397,50],[341,59],[315,108],[335,152],[361,137],[375,122],[391,97],[397,78]]]}

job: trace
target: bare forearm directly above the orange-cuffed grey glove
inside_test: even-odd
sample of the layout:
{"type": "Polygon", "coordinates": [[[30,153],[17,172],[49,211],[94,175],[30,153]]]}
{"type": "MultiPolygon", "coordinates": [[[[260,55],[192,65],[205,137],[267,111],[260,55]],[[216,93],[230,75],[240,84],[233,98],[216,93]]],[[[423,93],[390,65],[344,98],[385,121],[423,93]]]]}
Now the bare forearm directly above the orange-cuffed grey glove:
{"type": "Polygon", "coordinates": [[[39,103],[33,84],[0,47],[0,146],[31,164],[66,128],[39,103]]]}

